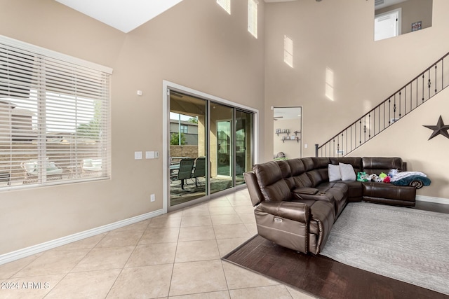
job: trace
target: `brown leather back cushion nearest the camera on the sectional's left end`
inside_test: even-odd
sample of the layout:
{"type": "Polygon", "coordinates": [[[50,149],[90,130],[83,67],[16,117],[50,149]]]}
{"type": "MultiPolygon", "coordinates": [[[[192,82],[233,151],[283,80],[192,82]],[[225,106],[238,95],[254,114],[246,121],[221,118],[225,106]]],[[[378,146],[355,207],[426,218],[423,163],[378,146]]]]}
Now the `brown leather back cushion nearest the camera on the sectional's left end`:
{"type": "Polygon", "coordinates": [[[290,188],[283,179],[281,167],[277,162],[270,161],[254,165],[253,172],[257,177],[264,200],[276,202],[290,200],[290,188]]]}

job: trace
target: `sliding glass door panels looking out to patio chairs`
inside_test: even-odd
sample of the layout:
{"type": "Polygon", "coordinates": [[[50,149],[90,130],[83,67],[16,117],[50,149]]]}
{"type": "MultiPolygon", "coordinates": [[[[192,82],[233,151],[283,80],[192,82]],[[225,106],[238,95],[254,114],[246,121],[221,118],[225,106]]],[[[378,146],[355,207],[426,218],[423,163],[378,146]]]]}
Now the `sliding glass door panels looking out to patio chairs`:
{"type": "Polygon", "coordinates": [[[168,90],[169,207],[245,183],[253,167],[253,113],[168,90]]]}

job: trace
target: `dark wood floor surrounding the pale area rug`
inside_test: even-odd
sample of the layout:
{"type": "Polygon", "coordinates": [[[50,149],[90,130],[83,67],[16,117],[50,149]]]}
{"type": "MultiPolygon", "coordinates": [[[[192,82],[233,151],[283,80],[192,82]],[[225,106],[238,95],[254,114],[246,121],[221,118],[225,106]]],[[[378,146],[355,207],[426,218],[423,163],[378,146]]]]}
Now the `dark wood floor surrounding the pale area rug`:
{"type": "MultiPolygon", "coordinates": [[[[449,214],[447,204],[417,202],[414,209],[449,214]]],[[[262,237],[257,236],[244,246],[248,246],[246,253],[236,253],[234,256],[229,253],[225,259],[279,279],[317,298],[449,298],[426,288],[344,265],[325,256],[284,249],[262,237]]]]}

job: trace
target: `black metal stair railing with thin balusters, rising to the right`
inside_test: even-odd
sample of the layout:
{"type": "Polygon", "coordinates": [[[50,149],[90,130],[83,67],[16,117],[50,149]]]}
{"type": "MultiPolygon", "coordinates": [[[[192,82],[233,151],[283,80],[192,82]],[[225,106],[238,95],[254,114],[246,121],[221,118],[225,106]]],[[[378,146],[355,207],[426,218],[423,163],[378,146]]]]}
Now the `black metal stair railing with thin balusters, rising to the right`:
{"type": "Polygon", "coordinates": [[[449,85],[449,53],[441,57],[384,102],[324,144],[315,145],[316,157],[343,157],[396,123],[449,85]]]}

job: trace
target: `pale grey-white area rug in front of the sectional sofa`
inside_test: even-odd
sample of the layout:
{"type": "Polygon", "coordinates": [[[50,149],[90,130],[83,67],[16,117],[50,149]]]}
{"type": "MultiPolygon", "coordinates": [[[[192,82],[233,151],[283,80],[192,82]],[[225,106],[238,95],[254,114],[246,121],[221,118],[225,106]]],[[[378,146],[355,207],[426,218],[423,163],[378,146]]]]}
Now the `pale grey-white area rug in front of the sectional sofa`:
{"type": "Polygon", "coordinates": [[[351,202],[321,254],[449,295],[449,214],[351,202]]]}

